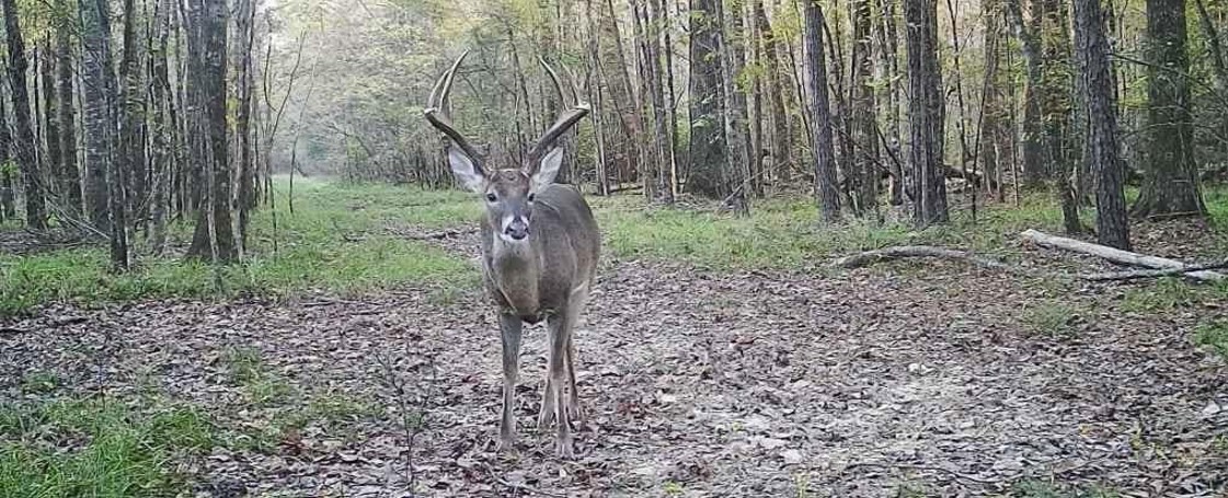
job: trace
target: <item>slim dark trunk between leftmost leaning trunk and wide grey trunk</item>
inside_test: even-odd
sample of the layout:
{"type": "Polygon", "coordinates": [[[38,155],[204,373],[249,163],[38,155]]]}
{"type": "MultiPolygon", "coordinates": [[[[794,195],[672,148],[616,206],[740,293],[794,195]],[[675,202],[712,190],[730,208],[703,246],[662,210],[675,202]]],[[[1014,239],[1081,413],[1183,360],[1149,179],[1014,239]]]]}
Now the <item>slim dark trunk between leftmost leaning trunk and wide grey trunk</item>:
{"type": "MultiPolygon", "coordinates": [[[[68,0],[61,0],[65,15],[69,13],[68,0]]],[[[81,172],[77,170],[76,157],[76,113],[72,108],[72,98],[76,96],[72,72],[72,26],[63,22],[55,28],[55,79],[59,80],[56,91],[59,92],[59,131],[60,142],[55,146],[60,150],[60,195],[63,195],[64,209],[70,215],[81,213],[81,172]]],[[[50,120],[50,115],[47,118],[50,120]]],[[[48,145],[50,146],[50,145],[48,145]]]]}

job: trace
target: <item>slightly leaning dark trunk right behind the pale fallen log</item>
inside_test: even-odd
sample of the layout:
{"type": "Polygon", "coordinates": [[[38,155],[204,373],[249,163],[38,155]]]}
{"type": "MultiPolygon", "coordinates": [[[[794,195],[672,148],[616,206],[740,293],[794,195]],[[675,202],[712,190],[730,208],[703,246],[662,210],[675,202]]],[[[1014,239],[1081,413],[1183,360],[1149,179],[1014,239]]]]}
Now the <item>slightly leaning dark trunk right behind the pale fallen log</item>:
{"type": "Polygon", "coordinates": [[[1100,244],[1129,250],[1125,166],[1117,148],[1117,113],[1100,0],[1074,0],[1074,39],[1083,80],[1079,88],[1087,103],[1084,157],[1092,162],[1088,169],[1097,174],[1097,238],[1100,244]]]}

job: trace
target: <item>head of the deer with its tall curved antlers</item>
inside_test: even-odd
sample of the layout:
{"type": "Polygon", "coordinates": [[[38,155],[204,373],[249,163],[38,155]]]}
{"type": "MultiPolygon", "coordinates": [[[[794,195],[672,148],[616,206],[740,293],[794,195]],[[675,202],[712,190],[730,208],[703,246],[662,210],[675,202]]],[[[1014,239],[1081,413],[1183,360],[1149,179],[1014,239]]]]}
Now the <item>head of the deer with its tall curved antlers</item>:
{"type": "MultiPolygon", "coordinates": [[[[426,104],[426,120],[449,139],[448,164],[452,167],[452,173],[467,189],[481,194],[490,227],[505,242],[523,242],[529,236],[535,194],[554,182],[562,164],[562,147],[559,145],[559,139],[588,114],[589,107],[578,101],[580,92],[572,82],[575,105],[560,114],[559,119],[533,144],[524,163],[519,168],[489,169],[486,157],[469,145],[443,112],[452,92],[457,67],[468,54],[468,50],[460,54],[456,63],[452,63],[452,67],[435,82],[430,102],[426,104]]],[[[540,58],[538,61],[550,76],[559,96],[566,99],[554,69],[540,58]]]]}

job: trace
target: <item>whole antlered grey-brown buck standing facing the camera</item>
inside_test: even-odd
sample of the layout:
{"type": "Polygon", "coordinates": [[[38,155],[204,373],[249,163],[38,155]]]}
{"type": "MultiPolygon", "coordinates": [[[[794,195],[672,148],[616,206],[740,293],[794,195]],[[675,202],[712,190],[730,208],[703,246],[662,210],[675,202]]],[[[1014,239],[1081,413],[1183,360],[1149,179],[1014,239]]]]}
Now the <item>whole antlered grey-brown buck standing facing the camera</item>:
{"type": "MultiPolygon", "coordinates": [[[[488,169],[485,157],[452,126],[443,110],[457,67],[467,54],[460,54],[435,83],[425,114],[431,125],[449,139],[452,173],[465,188],[481,194],[486,206],[481,222],[483,270],[486,289],[499,307],[503,337],[503,411],[499,446],[511,450],[516,440],[512,405],[522,326],[544,319],[550,359],[538,426],[555,422],[556,453],[571,458],[570,422],[572,417],[581,417],[572,332],[597,274],[600,236],[580,191],[555,184],[554,178],[562,163],[559,139],[588,114],[588,105],[578,102],[580,93],[572,83],[576,104],[533,145],[524,163],[519,168],[488,169]]],[[[542,66],[564,97],[558,75],[544,60],[542,66]]]]}

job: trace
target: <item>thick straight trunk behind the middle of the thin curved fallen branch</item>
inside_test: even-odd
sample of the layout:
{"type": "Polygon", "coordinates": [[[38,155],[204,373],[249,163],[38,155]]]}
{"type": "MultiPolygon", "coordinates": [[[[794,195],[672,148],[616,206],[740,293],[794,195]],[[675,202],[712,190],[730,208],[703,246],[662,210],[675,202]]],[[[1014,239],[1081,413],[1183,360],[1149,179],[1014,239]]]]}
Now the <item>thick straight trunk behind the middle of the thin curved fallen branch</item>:
{"type": "Polygon", "coordinates": [[[938,71],[938,5],[935,0],[905,0],[909,53],[909,121],[911,124],[912,217],[917,227],[944,223],[947,183],[943,175],[946,113],[942,74],[938,71]]]}

